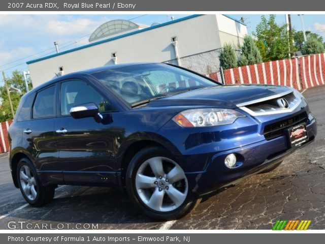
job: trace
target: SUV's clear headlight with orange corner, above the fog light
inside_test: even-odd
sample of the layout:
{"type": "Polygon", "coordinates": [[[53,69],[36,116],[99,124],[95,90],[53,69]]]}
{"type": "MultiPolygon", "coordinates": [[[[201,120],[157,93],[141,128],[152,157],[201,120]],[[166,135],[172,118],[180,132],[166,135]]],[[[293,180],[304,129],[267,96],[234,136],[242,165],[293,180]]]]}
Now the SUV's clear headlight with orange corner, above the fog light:
{"type": "Polygon", "coordinates": [[[200,108],[184,110],[173,120],[182,127],[206,127],[233,124],[239,117],[245,115],[233,109],[200,108]]]}

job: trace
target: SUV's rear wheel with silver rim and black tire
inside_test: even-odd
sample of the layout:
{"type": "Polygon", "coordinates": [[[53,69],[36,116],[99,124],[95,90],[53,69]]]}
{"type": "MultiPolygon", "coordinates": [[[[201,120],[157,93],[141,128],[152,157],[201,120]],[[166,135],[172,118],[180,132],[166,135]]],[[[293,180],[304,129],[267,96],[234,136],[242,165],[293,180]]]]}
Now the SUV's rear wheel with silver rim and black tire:
{"type": "Polygon", "coordinates": [[[44,187],[34,165],[26,158],[18,163],[17,181],[21,194],[31,206],[45,205],[54,197],[55,186],[44,187]]]}

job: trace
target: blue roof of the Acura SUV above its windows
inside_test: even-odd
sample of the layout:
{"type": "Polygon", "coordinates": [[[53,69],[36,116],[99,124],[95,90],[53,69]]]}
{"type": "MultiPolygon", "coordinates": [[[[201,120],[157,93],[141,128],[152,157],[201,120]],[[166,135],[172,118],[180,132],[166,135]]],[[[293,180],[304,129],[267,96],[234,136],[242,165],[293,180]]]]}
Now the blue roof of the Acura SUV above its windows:
{"type": "Polygon", "coordinates": [[[44,87],[46,87],[48,85],[54,84],[54,83],[56,83],[58,81],[61,81],[61,80],[64,80],[64,79],[73,78],[73,77],[81,75],[81,74],[89,74],[89,75],[91,75],[91,74],[106,71],[106,70],[113,70],[113,69],[118,69],[118,68],[127,67],[127,66],[148,65],[148,64],[161,64],[161,63],[148,63],[148,62],[147,63],[125,63],[125,64],[101,66],[101,67],[97,67],[97,68],[93,68],[93,69],[77,71],[77,72],[62,75],[62,76],[59,76],[59,77],[54,78],[52,80],[49,80],[49,81],[47,81],[47,82],[33,88],[28,93],[30,93],[30,94],[34,93],[36,90],[42,89],[42,88],[44,88],[44,87]]]}

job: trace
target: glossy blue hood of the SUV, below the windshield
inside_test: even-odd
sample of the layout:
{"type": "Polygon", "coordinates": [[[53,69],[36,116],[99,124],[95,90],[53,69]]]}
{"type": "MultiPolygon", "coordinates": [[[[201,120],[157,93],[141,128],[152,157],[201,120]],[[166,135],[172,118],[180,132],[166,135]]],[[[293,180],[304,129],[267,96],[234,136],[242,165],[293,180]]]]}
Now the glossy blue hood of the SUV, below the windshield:
{"type": "Polygon", "coordinates": [[[147,106],[216,106],[236,108],[237,104],[288,92],[275,85],[220,85],[190,90],[151,101],[147,106]]]}

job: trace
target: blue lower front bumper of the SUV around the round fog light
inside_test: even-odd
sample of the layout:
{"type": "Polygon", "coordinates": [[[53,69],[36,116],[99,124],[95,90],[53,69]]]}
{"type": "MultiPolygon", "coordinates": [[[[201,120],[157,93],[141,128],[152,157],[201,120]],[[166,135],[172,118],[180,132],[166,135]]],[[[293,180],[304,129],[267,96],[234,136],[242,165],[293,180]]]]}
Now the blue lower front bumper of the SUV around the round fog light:
{"type": "MultiPolygon", "coordinates": [[[[307,125],[309,141],[312,142],[317,134],[316,119],[307,125]]],[[[243,147],[216,153],[209,160],[209,164],[202,172],[187,172],[189,187],[194,193],[204,195],[213,190],[234,185],[237,182],[280,163],[285,157],[298,148],[290,148],[286,136],[272,140],[263,140],[243,147]],[[229,154],[239,155],[238,168],[230,169],[224,165],[224,159],[229,154]]]]}

